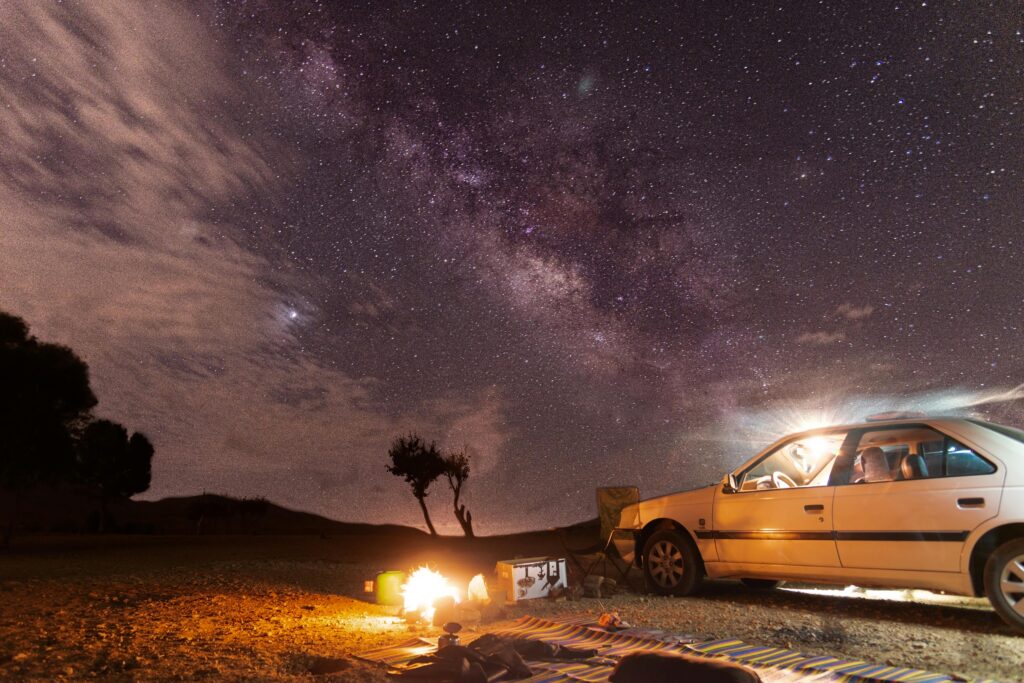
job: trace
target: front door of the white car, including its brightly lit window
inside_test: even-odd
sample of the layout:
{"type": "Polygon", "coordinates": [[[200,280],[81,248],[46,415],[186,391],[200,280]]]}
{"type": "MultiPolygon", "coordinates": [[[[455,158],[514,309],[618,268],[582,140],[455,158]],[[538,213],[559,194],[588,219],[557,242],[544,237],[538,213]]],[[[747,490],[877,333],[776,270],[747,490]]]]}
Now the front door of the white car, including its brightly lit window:
{"type": "Polygon", "coordinates": [[[786,441],[715,494],[719,560],[771,566],[838,567],[828,469],[844,432],[786,441]]]}

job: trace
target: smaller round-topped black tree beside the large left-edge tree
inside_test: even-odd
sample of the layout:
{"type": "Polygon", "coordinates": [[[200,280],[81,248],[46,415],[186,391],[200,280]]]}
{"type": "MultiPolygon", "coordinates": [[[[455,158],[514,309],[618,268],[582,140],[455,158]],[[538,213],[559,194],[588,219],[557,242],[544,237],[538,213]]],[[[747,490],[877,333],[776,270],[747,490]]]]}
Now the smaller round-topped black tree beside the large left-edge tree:
{"type": "Polygon", "coordinates": [[[110,420],[96,420],[82,431],[78,466],[82,480],[95,486],[99,500],[99,532],[106,530],[108,503],[150,487],[153,444],[143,434],[110,420]]]}

